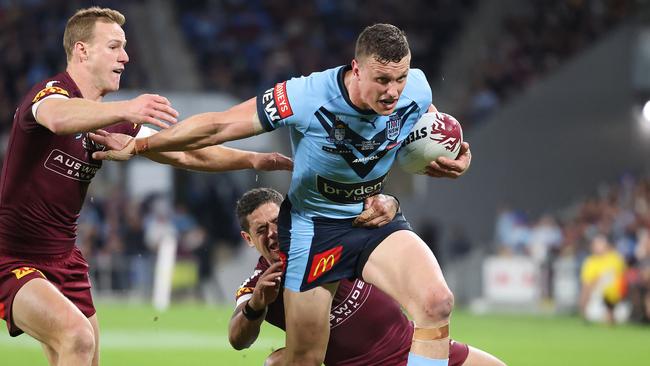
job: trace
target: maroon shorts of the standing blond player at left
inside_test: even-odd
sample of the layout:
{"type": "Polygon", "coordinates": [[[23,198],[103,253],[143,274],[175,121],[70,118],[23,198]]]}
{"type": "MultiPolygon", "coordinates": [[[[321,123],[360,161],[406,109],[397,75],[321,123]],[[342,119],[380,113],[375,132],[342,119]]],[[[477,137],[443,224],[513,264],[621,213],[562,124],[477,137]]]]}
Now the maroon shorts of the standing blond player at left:
{"type": "Polygon", "coordinates": [[[9,334],[18,336],[23,331],[11,319],[11,306],[18,290],[34,278],[45,278],[67,297],[86,316],[95,315],[90,294],[88,263],[75,247],[62,258],[30,259],[0,253],[0,317],[7,322],[9,334]]]}

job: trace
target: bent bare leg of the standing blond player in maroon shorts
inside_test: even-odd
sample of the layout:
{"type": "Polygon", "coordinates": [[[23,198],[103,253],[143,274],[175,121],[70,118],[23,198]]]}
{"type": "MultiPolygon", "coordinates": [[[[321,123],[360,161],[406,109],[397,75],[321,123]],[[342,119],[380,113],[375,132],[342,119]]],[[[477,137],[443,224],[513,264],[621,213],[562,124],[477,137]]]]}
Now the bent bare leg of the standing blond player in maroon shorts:
{"type": "Polygon", "coordinates": [[[93,326],[54,285],[42,278],[27,282],[18,290],[11,311],[20,329],[46,345],[50,362],[91,365],[93,326]]]}

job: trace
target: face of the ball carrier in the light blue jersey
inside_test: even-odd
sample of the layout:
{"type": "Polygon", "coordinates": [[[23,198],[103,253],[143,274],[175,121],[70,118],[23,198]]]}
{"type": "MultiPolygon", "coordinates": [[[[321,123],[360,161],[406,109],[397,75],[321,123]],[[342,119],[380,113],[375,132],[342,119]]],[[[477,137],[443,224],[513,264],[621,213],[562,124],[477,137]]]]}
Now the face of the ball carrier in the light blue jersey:
{"type": "Polygon", "coordinates": [[[374,57],[353,61],[353,71],[358,73],[359,92],[364,109],[387,116],[397,107],[397,100],[406,86],[406,77],[411,64],[411,55],[400,62],[387,64],[374,57]]]}

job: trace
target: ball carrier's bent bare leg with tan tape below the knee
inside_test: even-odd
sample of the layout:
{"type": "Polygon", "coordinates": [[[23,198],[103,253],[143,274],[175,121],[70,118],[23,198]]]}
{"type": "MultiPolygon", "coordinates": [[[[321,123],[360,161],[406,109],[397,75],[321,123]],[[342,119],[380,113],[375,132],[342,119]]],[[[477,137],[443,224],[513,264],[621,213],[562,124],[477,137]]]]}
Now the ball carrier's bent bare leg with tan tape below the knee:
{"type": "Polygon", "coordinates": [[[447,326],[454,298],[438,261],[422,239],[406,230],[388,236],[370,254],[363,279],[397,300],[413,318],[413,358],[424,358],[421,362],[425,365],[446,365],[447,326]]]}

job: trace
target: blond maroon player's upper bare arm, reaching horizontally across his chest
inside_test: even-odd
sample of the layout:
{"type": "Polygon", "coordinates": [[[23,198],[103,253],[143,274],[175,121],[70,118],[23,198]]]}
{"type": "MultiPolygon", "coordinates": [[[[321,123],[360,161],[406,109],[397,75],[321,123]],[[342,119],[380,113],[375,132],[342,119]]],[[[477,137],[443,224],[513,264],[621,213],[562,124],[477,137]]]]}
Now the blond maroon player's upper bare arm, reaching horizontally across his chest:
{"type": "Polygon", "coordinates": [[[36,122],[57,135],[93,131],[119,122],[166,128],[167,123],[176,123],[178,117],[169,100],[155,94],[118,102],[50,97],[38,102],[32,112],[36,122]]]}

